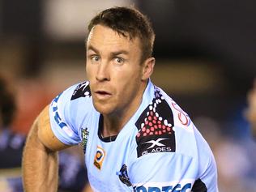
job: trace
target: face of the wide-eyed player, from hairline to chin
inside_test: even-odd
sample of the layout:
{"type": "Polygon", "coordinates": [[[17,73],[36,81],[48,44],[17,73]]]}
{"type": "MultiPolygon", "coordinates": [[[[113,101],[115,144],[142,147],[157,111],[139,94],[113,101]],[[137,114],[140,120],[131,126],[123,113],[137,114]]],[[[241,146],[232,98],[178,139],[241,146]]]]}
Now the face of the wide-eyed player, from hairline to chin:
{"type": "Polygon", "coordinates": [[[102,25],[92,28],[86,70],[97,111],[121,114],[139,104],[144,89],[140,58],[139,38],[131,41],[102,25]]]}

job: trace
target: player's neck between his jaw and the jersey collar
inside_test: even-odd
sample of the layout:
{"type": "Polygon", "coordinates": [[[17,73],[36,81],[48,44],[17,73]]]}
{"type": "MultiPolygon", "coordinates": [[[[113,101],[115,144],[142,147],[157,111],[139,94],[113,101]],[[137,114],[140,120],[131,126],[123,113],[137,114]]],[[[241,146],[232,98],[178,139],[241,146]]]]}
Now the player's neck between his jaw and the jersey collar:
{"type": "Polygon", "coordinates": [[[146,87],[147,83],[143,84],[142,88],[131,101],[131,103],[129,103],[122,110],[118,110],[116,113],[113,114],[103,114],[103,137],[117,135],[126,125],[126,123],[129,122],[130,118],[139,109],[139,105],[143,100],[143,92],[146,89],[146,87]]]}

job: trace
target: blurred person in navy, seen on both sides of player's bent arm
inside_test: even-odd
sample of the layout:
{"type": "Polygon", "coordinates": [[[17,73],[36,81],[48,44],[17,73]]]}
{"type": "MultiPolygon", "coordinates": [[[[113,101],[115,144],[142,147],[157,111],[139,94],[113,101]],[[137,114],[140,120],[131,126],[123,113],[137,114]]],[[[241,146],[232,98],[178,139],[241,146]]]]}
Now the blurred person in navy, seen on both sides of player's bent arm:
{"type": "MultiPolygon", "coordinates": [[[[11,129],[16,114],[15,87],[0,75],[0,191],[23,192],[21,159],[26,135],[11,129]]],[[[59,153],[58,192],[81,192],[87,173],[78,148],[59,153]]],[[[87,191],[87,190],[85,190],[87,191]]]]}

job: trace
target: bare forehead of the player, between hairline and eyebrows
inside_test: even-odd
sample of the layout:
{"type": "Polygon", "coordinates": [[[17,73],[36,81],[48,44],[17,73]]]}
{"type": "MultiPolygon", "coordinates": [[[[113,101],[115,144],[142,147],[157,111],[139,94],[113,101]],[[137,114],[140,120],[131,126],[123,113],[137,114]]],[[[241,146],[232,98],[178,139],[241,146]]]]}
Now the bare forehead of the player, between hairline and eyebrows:
{"type": "Polygon", "coordinates": [[[129,36],[122,36],[113,29],[103,25],[96,25],[92,28],[87,38],[87,49],[89,46],[97,49],[138,49],[140,48],[140,41],[138,37],[130,39],[129,36]]]}

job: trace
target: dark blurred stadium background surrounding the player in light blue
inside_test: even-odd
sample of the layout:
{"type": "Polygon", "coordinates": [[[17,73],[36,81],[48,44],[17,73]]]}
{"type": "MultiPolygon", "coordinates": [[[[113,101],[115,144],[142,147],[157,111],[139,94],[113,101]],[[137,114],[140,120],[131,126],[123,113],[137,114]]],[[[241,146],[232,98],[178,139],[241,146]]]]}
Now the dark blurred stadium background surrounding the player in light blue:
{"type": "MultiPolygon", "coordinates": [[[[111,6],[135,6],[151,19],[151,79],[207,139],[220,191],[254,191],[256,140],[244,117],[256,77],[253,0],[0,0],[0,74],[17,105],[11,130],[26,136],[54,96],[86,79],[87,23],[111,6]]],[[[6,191],[3,175],[0,169],[0,191],[6,191]]]]}

